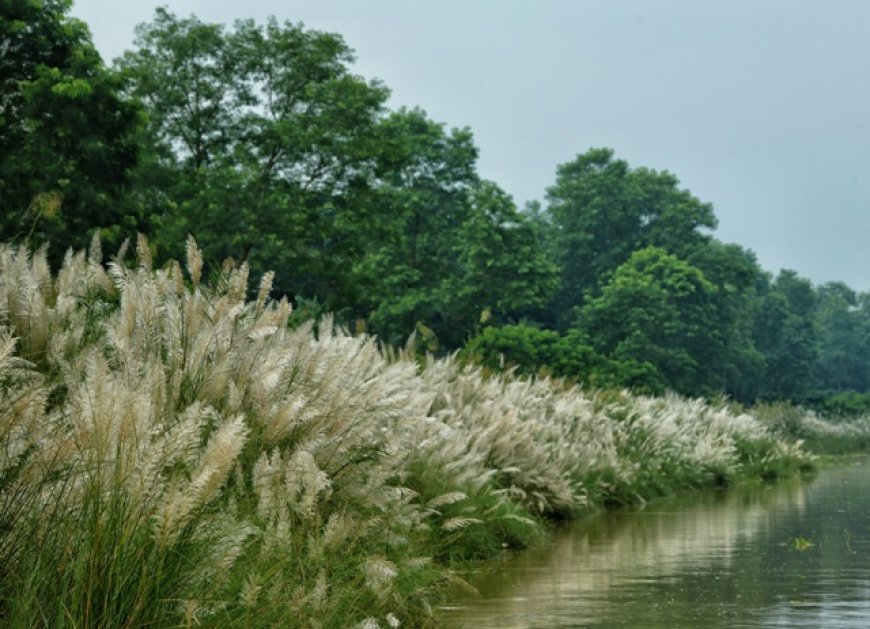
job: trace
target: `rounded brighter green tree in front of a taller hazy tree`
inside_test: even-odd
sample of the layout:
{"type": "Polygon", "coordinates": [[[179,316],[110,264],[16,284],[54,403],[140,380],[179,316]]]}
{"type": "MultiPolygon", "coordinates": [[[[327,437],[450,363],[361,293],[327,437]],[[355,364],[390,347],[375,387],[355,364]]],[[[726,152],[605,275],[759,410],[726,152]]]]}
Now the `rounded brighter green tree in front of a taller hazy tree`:
{"type": "Polygon", "coordinates": [[[633,253],[581,312],[599,353],[652,365],[669,388],[689,395],[721,386],[714,320],[716,287],[696,267],[658,247],[633,253]]]}

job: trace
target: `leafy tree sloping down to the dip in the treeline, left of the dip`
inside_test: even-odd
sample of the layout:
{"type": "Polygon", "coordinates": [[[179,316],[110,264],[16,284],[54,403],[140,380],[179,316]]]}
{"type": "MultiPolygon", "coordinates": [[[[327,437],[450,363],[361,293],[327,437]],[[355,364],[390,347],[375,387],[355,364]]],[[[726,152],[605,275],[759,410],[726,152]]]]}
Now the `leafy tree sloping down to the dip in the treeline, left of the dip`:
{"type": "Polygon", "coordinates": [[[400,342],[425,325],[455,348],[483,323],[540,310],[556,269],[512,199],[478,179],[470,133],[447,133],[419,110],[389,116],[385,132],[394,162],[379,194],[388,212],[361,265],[372,329],[400,342]]]}

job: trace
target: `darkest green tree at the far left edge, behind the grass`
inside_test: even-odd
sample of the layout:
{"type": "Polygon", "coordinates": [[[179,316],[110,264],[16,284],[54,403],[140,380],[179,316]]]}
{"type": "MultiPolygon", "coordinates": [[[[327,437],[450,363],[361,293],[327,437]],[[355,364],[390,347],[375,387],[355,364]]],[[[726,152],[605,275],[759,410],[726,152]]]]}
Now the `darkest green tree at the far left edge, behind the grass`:
{"type": "Polygon", "coordinates": [[[141,228],[127,203],[140,111],[120,94],[68,0],[0,8],[0,232],[53,243],[57,262],[94,228],[109,245],[141,228]]]}

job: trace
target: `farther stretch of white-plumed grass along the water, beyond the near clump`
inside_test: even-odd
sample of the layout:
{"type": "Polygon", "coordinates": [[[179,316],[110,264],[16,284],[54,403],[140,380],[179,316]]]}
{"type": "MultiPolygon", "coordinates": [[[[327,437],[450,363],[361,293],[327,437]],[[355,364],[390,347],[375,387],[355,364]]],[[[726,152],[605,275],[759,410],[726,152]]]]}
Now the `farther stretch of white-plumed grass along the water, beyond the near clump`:
{"type": "Polygon", "coordinates": [[[741,466],[806,459],[755,418],[702,400],[599,396],[546,378],[485,377],[452,359],[431,361],[421,377],[438,421],[421,425],[412,451],[454,490],[486,479],[545,515],[570,515],[590,494],[642,501],[650,482],[646,491],[698,486],[741,466]],[[745,460],[754,449],[764,458],[745,460]]]}

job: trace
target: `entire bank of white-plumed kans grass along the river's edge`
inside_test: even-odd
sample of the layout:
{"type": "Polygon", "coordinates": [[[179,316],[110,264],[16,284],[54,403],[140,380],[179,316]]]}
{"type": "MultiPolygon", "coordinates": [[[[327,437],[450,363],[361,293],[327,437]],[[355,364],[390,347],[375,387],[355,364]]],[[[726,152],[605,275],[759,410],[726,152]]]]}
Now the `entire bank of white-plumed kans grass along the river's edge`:
{"type": "Polygon", "coordinates": [[[193,240],[123,257],[0,245],[3,626],[424,626],[548,521],[811,458],[725,404],[293,329],[193,240]]]}

